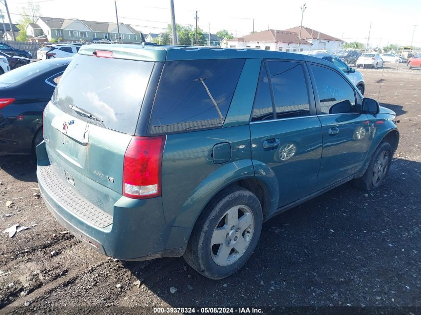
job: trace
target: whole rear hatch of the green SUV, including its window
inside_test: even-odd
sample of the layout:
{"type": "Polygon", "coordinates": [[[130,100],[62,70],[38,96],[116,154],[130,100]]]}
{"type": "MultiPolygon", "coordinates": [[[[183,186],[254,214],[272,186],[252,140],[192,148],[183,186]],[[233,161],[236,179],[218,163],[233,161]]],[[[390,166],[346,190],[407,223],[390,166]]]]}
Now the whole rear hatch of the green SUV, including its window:
{"type": "Polygon", "coordinates": [[[75,55],[44,112],[44,139],[58,176],[112,214],[153,61],[75,55]]]}

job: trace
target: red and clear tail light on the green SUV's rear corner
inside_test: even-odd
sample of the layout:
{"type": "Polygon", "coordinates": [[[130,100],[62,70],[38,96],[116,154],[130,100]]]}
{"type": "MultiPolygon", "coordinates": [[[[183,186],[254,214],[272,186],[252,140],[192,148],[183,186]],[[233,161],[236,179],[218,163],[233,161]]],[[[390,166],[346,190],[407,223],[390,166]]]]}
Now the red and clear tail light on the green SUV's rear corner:
{"type": "Polygon", "coordinates": [[[145,199],[161,195],[164,145],[165,136],[132,138],[124,155],[124,196],[145,199]]]}

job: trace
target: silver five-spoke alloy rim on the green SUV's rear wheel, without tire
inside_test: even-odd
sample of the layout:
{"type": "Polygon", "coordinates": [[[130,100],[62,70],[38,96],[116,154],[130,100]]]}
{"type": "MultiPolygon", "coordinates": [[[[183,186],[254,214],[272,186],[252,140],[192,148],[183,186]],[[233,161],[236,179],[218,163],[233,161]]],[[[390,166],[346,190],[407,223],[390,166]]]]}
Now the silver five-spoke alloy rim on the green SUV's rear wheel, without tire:
{"type": "Polygon", "coordinates": [[[247,206],[235,206],[225,212],[212,233],[213,261],[219,266],[236,262],[249,247],[254,228],[253,212],[247,206]]]}

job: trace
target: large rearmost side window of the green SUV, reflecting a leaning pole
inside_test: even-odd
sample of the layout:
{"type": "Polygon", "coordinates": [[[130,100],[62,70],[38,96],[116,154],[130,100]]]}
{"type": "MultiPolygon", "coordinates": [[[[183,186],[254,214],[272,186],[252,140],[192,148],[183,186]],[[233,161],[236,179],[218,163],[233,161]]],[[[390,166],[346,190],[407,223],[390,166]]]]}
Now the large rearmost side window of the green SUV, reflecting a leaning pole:
{"type": "Polygon", "coordinates": [[[244,61],[167,61],[152,107],[149,133],[221,127],[244,61]]]}

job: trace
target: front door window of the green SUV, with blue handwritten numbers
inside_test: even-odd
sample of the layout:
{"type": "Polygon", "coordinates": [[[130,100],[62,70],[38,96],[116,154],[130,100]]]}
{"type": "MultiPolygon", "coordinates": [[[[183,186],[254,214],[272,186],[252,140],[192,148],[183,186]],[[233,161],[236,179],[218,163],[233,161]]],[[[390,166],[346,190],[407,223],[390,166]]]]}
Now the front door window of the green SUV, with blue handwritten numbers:
{"type": "Polygon", "coordinates": [[[355,91],[337,72],[311,65],[319,95],[321,114],[358,112],[355,91]]]}

